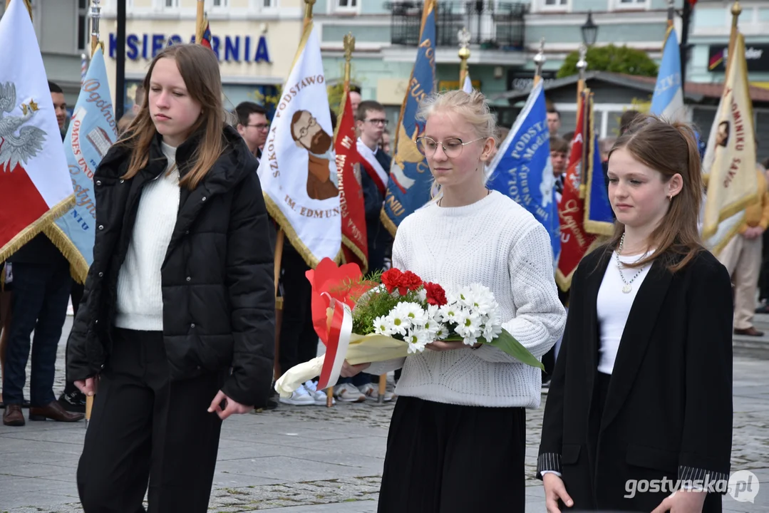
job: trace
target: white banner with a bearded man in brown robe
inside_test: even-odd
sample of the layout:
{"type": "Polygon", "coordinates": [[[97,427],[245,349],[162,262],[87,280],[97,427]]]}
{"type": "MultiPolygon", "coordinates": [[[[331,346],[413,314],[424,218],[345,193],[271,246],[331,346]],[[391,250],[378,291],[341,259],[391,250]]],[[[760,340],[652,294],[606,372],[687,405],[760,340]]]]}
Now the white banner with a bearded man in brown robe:
{"type": "Polygon", "coordinates": [[[311,268],[341,252],[334,130],[318,32],[308,23],[258,169],[265,203],[311,268]]]}

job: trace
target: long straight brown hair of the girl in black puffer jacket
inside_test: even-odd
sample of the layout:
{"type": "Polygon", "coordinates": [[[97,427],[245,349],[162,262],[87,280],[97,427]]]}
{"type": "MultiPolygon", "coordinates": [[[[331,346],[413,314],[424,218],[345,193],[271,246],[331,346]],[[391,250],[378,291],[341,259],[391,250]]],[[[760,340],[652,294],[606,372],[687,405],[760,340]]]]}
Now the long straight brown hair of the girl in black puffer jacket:
{"type": "Polygon", "coordinates": [[[225,150],[225,141],[222,137],[222,128],[225,126],[225,111],[221,104],[219,63],[214,52],[201,45],[171,45],[152,59],[143,82],[141,110],[131,125],[128,125],[125,137],[117,143],[125,145],[131,152],[128,171],[122,178],[133,178],[149,162],[149,147],[152,139],[158,133],[149,113],[149,84],[152,70],[155,69],[155,64],[161,58],[175,60],[181,78],[185,81],[187,92],[202,108],[198,121],[192,125],[190,130],[191,134],[201,131],[201,141],[192,155],[191,169],[179,181],[179,185],[194,189],[225,150]]]}

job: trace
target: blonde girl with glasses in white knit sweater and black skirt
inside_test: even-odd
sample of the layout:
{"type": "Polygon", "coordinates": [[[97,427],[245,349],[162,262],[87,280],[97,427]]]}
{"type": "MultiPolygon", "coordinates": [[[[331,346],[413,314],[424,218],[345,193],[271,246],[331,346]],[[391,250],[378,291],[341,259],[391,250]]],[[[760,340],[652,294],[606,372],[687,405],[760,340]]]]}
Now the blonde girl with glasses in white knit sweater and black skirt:
{"type": "MultiPolygon", "coordinates": [[[[448,292],[481,283],[503,327],[541,358],[561,336],[565,312],[545,228],[485,186],[494,116],[479,92],[423,102],[418,146],[440,192],[405,218],[393,267],[448,292]]],[[[435,341],[428,351],[342,375],[403,368],[384,461],[378,511],[524,511],[524,408],[540,403],[541,373],[490,345],[435,341]]]]}

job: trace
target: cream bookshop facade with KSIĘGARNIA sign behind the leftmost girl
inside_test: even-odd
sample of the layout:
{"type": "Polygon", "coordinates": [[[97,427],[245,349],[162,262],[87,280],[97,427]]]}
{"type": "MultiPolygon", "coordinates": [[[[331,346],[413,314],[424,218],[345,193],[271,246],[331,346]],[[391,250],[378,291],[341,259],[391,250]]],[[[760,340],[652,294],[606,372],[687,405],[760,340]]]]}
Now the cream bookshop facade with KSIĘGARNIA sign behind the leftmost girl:
{"type": "MultiPolygon", "coordinates": [[[[195,41],[197,0],[126,0],[125,106],[162,48],[195,41]]],[[[115,76],[117,0],[102,9],[108,75],[115,76]]],[[[211,47],[220,62],[225,108],[275,105],[301,38],[303,0],[206,0],[211,47]]],[[[115,84],[112,83],[114,91],[115,84]]],[[[114,94],[114,93],[113,93],[114,94]]]]}

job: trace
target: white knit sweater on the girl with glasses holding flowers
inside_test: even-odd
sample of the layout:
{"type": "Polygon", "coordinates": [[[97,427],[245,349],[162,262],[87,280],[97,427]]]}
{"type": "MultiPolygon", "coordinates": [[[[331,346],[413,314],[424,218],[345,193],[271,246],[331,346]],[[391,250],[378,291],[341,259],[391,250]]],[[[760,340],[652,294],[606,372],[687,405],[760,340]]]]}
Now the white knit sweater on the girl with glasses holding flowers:
{"type": "MultiPolygon", "coordinates": [[[[561,337],[566,312],[558,300],[545,228],[513,200],[491,192],[472,205],[428,205],[401,222],[393,267],[413,271],[447,293],[473,283],[491,288],[502,327],[541,358],[561,337]]],[[[366,372],[403,368],[395,393],[454,405],[538,408],[541,371],[491,345],[426,349],[375,362],[366,372]]]]}

